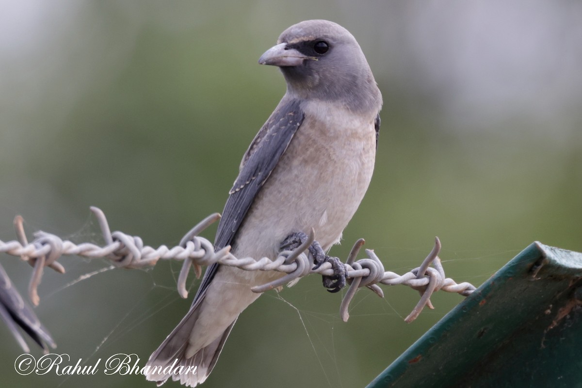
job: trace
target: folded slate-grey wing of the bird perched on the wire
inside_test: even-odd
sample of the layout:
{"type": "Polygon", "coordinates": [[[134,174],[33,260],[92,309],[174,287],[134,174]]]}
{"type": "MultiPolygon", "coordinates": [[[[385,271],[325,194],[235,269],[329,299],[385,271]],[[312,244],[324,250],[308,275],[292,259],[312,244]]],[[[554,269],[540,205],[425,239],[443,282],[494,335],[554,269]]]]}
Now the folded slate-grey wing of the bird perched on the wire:
{"type": "MultiPolygon", "coordinates": [[[[283,99],[255,136],[243,156],[239,176],[230,189],[230,195],[222,211],[214,241],[216,249],[233,245],[236,233],[253,204],[255,196],[271,175],[303,122],[303,118],[304,112],[300,108],[299,100],[283,99]]],[[[207,268],[192,305],[206,290],[217,270],[218,264],[212,264],[207,268]]]]}

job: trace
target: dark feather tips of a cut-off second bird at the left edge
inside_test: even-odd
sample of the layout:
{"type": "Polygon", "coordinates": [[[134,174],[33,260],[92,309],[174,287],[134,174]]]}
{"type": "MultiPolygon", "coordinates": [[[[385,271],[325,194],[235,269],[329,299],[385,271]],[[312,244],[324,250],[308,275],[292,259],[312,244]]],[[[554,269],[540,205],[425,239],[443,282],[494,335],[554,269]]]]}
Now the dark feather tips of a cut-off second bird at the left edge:
{"type": "Polygon", "coordinates": [[[24,303],[19,292],[15,289],[6,271],[0,265],[0,318],[2,318],[12,335],[16,338],[24,351],[28,352],[29,348],[18,331],[18,326],[24,332],[29,334],[40,347],[47,350],[48,343],[55,347],[55,341],[52,340],[51,334],[42,326],[34,311],[24,303]]]}

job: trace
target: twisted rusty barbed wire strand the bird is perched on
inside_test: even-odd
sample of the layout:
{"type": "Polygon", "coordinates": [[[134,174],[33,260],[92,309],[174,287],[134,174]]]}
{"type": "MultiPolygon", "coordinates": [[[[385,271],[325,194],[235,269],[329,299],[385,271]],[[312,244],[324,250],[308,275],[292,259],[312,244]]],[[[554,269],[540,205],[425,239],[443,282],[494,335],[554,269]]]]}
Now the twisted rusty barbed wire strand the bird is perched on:
{"type": "MultiPolygon", "coordinates": [[[[275,270],[286,273],[286,275],[277,280],[253,287],[251,290],[255,293],[263,293],[267,290],[282,287],[284,284],[291,286],[300,277],[310,273],[318,273],[324,276],[334,274],[331,264],[328,262],[314,269],[314,259],[311,254],[306,253],[307,248],[314,241],[313,229],[303,244],[292,251],[279,252],[275,260],[267,257],[260,259],[251,257],[237,258],[230,253],[229,246],[215,251],[214,245],[209,240],[198,236],[204,229],[220,218],[218,213],[208,216],[194,226],[184,235],[178,246],[168,248],[166,245],[160,245],[158,248],[152,248],[144,245],[138,236],[130,236],[123,232],[111,233],[107,218],[105,218],[105,214],[101,209],[91,207],[91,211],[99,222],[105,240],[105,245],[102,247],[93,243],[74,244],[68,240],[63,241],[55,234],[41,231],[34,233],[34,240],[29,243],[24,232],[21,216],[16,216],[14,220],[17,241],[4,243],[0,240],[0,252],[20,257],[33,266],[34,270],[29,283],[29,297],[34,305],[38,305],[40,302],[38,286],[42,279],[44,267],[48,266],[56,270],[56,272],[65,273],[65,268],[57,261],[63,255],[105,258],[119,268],[130,269],[154,266],[159,259],[181,260],[183,265],[177,286],[178,293],[183,298],[188,296],[186,283],[190,268],[193,267],[196,277],[200,278],[202,273],[201,266],[214,263],[234,266],[243,270],[275,270]]],[[[435,238],[434,248],[432,248],[432,251],[424,259],[420,267],[404,273],[404,275],[389,271],[385,272],[384,265],[382,265],[381,260],[373,250],[365,250],[367,258],[356,261],[363,244],[363,239],[356,241],[345,263],[346,278],[350,286],[340,305],[340,316],[343,321],[347,321],[349,318],[349,304],[357,289],[364,286],[380,297],[384,297],[384,292],[378,286],[378,283],[386,285],[403,284],[419,291],[421,294],[420,301],[404,319],[406,322],[414,321],[425,306],[431,309],[434,308],[430,297],[435,291],[442,290],[468,296],[475,290],[475,287],[470,283],[457,284],[453,279],[445,276],[441,260],[438,257],[438,253],[441,250],[441,242],[438,237],[435,238]]]]}

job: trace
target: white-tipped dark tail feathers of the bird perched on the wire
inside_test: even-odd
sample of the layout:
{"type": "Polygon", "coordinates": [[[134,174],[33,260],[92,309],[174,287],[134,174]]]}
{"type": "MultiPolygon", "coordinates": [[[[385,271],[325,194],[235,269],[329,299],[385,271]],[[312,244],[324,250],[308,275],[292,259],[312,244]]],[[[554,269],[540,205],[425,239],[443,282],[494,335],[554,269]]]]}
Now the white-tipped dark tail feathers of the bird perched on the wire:
{"type": "Polygon", "coordinates": [[[166,380],[172,378],[172,380],[179,381],[187,387],[196,387],[210,375],[226,338],[230,334],[232,326],[235,325],[236,318],[222,335],[207,346],[197,350],[192,357],[186,358],[188,337],[197,321],[199,312],[200,309],[192,308],[158,349],[152,353],[146,364],[146,368],[149,368],[144,370],[147,380],[157,382],[159,387],[166,380]]]}

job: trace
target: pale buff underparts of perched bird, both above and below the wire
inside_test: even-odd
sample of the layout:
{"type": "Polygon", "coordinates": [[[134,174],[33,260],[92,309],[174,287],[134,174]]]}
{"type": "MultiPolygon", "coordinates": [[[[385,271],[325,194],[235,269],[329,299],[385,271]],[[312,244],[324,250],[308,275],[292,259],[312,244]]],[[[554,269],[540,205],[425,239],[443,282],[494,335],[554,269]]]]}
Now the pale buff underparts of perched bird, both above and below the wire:
{"type": "MultiPolygon", "coordinates": [[[[255,198],[237,234],[232,251],[236,257],[274,259],[289,234],[309,233],[312,227],[324,250],[339,242],[370,184],[374,121],[356,120],[347,127],[345,122],[318,125],[324,133],[304,130],[313,124],[301,125],[255,198]],[[335,124],[343,129],[336,130],[335,124]]],[[[189,348],[203,347],[222,333],[259,296],[251,287],[283,275],[221,266],[203,300],[203,308],[215,312],[200,316],[189,348]]]]}

